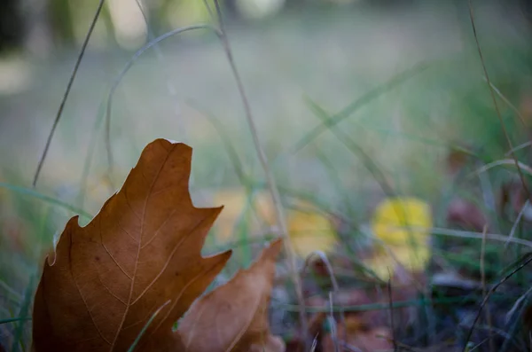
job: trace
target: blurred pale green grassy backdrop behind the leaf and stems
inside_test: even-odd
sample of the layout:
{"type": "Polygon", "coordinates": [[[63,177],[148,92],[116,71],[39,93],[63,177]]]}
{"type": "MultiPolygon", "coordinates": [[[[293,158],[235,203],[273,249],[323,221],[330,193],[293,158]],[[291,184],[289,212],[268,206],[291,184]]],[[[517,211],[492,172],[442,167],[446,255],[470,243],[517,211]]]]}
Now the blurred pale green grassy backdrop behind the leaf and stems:
{"type": "MultiPolygon", "coordinates": [[[[109,0],[32,189],[97,3],[0,5],[2,317],[27,316],[18,309],[27,309],[22,302],[33,294],[54,233],[80,211],[87,214],[85,223],[96,214],[154,138],[194,148],[191,187],[198,206],[213,205],[223,190],[263,188],[234,77],[222,44],[207,30],[168,38],[121,79],[112,96],[115,165],[107,176],[103,117],[121,70],[150,38],[212,22],[199,0],[109,0]]],[[[370,169],[378,168],[395,194],[425,199],[434,207],[435,225],[443,226],[445,199],[453,192],[473,194],[468,187],[453,188],[450,151],[465,147],[484,163],[506,158],[510,148],[484,79],[466,1],[222,4],[236,65],[286,204],[304,196],[353,222],[367,222],[384,193],[360,158],[363,151],[374,164],[370,169]],[[315,136],[310,132],[323,127],[325,116],[316,113],[319,108],[330,116],[341,112],[343,119],[315,136]],[[356,146],[346,147],[335,130],[356,146]]],[[[512,145],[520,145],[528,141],[532,122],[529,2],[475,1],[473,9],[505,126],[512,145]]],[[[528,149],[520,156],[528,162],[528,149]]],[[[505,172],[489,174],[494,189],[514,176],[505,172]]]]}

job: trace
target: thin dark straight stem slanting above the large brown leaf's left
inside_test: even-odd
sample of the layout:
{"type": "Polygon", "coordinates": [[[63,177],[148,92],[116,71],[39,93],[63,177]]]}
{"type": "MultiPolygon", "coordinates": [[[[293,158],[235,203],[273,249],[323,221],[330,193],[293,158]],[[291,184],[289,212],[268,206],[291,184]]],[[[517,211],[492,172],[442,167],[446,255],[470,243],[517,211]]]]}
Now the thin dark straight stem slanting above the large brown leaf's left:
{"type": "Polygon", "coordinates": [[[37,180],[39,179],[39,175],[41,174],[41,169],[43,168],[44,160],[46,159],[46,155],[48,155],[48,150],[50,149],[51,139],[53,138],[55,130],[58,127],[59,119],[61,118],[63,109],[65,108],[66,99],[68,98],[68,95],[70,94],[70,90],[72,89],[72,83],[74,83],[74,78],[78,72],[80,64],[82,63],[83,56],[85,55],[85,50],[87,49],[87,45],[89,44],[90,35],[92,35],[94,27],[96,27],[96,22],[98,21],[99,15],[102,12],[102,8],[104,7],[104,1],[105,0],[100,0],[98,4],[96,13],[94,14],[94,17],[92,18],[92,22],[90,22],[89,31],[87,32],[87,35],[85,35],[85,40],[83,41],[83,44],[82,44],[82,50],[80,51],[78,58],[75,61],[74,69],[72,70],[72,74],[70,74],[70,79],[68,80],[68,83],[66,84],[65,94],[63,94],[63,98],[61,99],[61,104],[59,105],[58,113],[56,114],[55,120],[53,121],[53,125],[51,126],[51,131],[50,131],[50,134],[48,135],[48,139],[46,140],[46,145],[44,145],[43,154],[41,155],[41,159],[39,160],[37,169],[35,170],[35,176],[34,176],[33,183],[32,183],[33,187],[35,187],[35,185],[37,184],[37,180]]]}

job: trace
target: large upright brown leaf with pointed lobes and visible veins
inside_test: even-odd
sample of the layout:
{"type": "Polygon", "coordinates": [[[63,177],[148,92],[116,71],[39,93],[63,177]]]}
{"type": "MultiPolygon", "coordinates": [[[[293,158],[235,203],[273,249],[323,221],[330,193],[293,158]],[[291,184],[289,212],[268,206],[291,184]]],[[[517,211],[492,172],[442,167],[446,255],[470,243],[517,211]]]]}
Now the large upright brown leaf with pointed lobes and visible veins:
{"type": "Polygon", "coordinates": [[[128,350],[168,301],[137,350],[183,350],[172,325],[231,256],[200,255],[222,207],[193,207],[191,160],[189,146],[155,140],[86,227],[66,224],[35,293],[37,352],[128,350]]]}

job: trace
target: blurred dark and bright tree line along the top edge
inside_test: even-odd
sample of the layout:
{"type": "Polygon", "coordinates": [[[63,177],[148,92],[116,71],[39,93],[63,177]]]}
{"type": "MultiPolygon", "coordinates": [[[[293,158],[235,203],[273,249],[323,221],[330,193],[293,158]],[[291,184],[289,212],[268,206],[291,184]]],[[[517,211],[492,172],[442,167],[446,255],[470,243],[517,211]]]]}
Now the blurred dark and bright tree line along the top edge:
{"type": "MultiPolygon", "coordinates": [[[[32,33],[39,33],[41,41],[56,45],[81,42],[98,2],[93,0],[3,0],[0,2],[0,51],[21,46],[32,33]],[[32,28],[34,29],[32,31],[32,28]],[[48,37],[45,37],[48,36],[48,37]]],[[[301,9],[327,12],[331,7],[376,6],[398,10],[416,4],[416,0],[221,0],[228,19],[263,20],[280,12],[301,9]]],[[[455,0],[459,12],[466,12],[467,2],[455,0]]],[[[520,11],[532,13],[529,0],[502,2],[505,8],[520,7],[520,11]]],[[[215,11],[212,0],[207,0],[215,11]]],[[[106,0],[101,13],[104,37],[107,44],[118,43],[130,49],[133,43],[145,40],[145,18],[149,29],[160,35],[172,28],[208,22],[210,16],[204,1],[200,0],[106,0]],[[139,11],[139,5],[143,12],[139,11]]],[[[31,41],[31,40],[29,40],[31,41]]]]}

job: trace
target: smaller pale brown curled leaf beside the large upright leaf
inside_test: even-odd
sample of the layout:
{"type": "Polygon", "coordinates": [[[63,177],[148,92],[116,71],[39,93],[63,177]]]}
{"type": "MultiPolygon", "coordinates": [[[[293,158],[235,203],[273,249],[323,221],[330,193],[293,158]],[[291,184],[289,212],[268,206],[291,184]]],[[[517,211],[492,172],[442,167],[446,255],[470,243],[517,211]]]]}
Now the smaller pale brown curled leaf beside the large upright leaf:
{"type": "Polygon", "coordinates": [[[194,302],[179,324],[187,351],[266,351],[285,349],[270,335],[268,305],[281,249],[277,239],[247,270],[194,302]]]}

